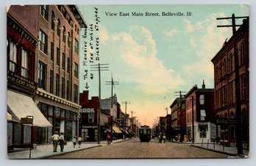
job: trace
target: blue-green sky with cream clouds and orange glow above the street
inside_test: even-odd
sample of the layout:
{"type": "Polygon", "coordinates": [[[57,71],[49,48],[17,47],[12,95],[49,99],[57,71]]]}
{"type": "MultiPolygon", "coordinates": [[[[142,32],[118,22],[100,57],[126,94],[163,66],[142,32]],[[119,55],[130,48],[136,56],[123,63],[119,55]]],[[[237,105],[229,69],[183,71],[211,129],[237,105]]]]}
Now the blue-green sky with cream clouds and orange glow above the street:
{"type": "MultiPolygon", "coordinates": [[[[179,97],[176,92],[182,91],[185,95],[195,84],[201,88],[203,80],[207,88],[214,88],[211,59],[232,36],[231,28],[217,28],[217,25],[230,25],[230,21],[217,21],[216,18],[231,17],[232,13],[249,16],[249,6],[243,4],[78,7],[89,27],[86,38],[82,37],[85,29],[80,32],[80,93],[89,90],[90,97],[99,96],[99,73],[91,71],[90,65],[108,64],[108,71],[101,72],[101,98],[111,96],[111,85],[106,82],[110,82],[113,76],[113,81],[118,82],[113,93],[117,95],[122,111],[125,112],[122,103],[128,101],[127,114],[135,112],[133,116],[142,125],[149,126],[156,122],[157,117],[166,116],[166,107],[168,114],[171,113],[170,105],[179,97]],[[132,15],[134,12],[142,16],[132,15]],[[90,24],[99,25],[99,31],[93,29],[92,41],[90,24]],[[98,61],[96,37],[99,37],[98,61]],[[93,53],[94,60],[85,66],[84,58],[87,56],[89,61],[90,53],[93,53]],[[85,70],[89,75],[93,73],[93,79],[84,79],[85,70]]],[[[238,19],[236,24],[241,24],[241,21],[238,19]]]]}

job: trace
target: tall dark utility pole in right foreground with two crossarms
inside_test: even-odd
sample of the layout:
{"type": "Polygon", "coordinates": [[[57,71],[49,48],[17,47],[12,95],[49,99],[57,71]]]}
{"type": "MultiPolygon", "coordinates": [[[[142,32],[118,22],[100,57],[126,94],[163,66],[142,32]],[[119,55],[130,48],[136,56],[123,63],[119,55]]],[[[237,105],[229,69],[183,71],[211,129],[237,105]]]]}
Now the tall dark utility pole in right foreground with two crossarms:
{"type": "Polygon", "coordinates": [[[232,27],[232,37],[233,37],[233,47],[234,47],[234,58],[235,58],[235,118],[236,118],[236,125],[235,125],[235,131],[236,131],[236,145],[238,148],[238,154],[243,154],[243,145],[242,145],[242,123],[241,123],[241,91],[240,91],[240,78],[239,78],[239,61],[238,61],[238,48],[237,48],[237,40],[236,40],[236,25],[235,19],[238,18],[247,18],[249,17],[235,17],[235,14],[232,14],[232,17],[230,18],[216,18],[217,20],[226,20],[231,19],[232,25],[224,25],[224,26],[217,26],[217,27],[232,27]]]}

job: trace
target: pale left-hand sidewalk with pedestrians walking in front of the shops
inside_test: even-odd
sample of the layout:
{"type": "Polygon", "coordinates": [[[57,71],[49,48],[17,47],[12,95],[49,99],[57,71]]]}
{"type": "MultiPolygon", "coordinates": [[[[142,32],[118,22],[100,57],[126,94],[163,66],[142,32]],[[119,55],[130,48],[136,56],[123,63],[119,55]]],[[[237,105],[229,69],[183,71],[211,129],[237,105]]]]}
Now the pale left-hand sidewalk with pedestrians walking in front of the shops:
{"type": "MultiPolygon", "coordinates": [[[[127,139],[129,140],[129,139],[127,139]]],[[[127,140],[113,140],[113,143],[123,142],[127,140]]],[[[101,144],[98,145],[98,142],[82,142],[81,147],[78,145],[74,148],[73,142],[68,142],[67,145],[64,146],[64,151],[60,152],[60,145],[57,147],[57,153],[53,152],[53,145],[38,145],[35,149],[31,151],[31,159],[41,159],[47,158],[50,156],[56,156],[60,154],[67,154],[72,151],[81,151],[83,149],[95,148],[102,145],[107,145],[107,141],[101,141],[101,144]]],[[[29,159],[29,148],[22,149],[21,151],[15,151],[7,154],[8,159],[29,159]]]]}

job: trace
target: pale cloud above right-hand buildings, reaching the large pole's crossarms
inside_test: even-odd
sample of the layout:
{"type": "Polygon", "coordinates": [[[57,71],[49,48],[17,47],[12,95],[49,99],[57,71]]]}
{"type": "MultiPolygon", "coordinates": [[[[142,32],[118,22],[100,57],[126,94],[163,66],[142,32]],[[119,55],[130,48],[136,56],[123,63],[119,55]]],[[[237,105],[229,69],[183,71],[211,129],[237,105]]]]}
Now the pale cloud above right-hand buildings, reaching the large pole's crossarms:
{"type": "MultiPolygon", "coordinates": [[[[226,25],[227,21],[217,22],[216,18],[227,17],[223,12],[213,13],[204,21],[199,21],[195,24],[189,22],[189,26],[193,27],[193,34],[190,36],[191,46],[200,46],[195,52],[196,62],[186,64],[183,67],[188,78],[193,79],[199,76],[202,79],[207,79],[207,82],[213,79],[213,63],[211,59],[218,53],[224,40],[232,34],[232,31],[227,28],[217,28],[217,24],[226,25]],[[196,35],[194,40],[193,35],[196,35]],[[203,69],[203,70],[202,70],[203,69]]],[[[213,82],[213,80],[212,80],[213,82]]]]}

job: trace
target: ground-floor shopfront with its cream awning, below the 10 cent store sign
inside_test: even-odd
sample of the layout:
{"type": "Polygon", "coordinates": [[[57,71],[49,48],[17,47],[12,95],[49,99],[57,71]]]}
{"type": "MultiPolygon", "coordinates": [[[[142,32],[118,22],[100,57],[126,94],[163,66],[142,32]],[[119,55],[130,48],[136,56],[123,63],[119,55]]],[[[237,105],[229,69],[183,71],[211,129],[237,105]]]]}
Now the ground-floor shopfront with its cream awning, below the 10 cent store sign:
{"type": "Polygon", "coordinates": [[[51,123],[36,107],[32,97],[13,90],[7,90],[8,148],[24,147],[45,138],[51,123]],[[32,124],[21,124],[21,118],[32,117],[32,124]],[[38,134],[41,134],[38,137],[38,134]]]}

